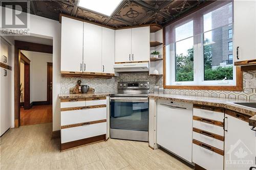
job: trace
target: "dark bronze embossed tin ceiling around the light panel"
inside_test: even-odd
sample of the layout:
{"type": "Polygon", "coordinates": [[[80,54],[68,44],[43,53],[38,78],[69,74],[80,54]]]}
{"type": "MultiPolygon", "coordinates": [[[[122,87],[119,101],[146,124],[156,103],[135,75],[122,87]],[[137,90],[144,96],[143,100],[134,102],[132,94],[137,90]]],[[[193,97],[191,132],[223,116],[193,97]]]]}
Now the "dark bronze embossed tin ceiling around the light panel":
{"type": "MultiPolygon", "coordinates": [[[[202,4],[206,2],[206,0],[124,0],[116,8],[112,16],[105,16],[103,14],[78,7],[77,0],[28,1],[30,1],[30,13],[34,15],[59,20],[59,13],[63,13],[115,28],[137,26],[148,23],[158,23],[159,25],[164,25],[165,23],[179,17],[181,14],[195,7],[202,6],[202,4]]],[[[18,2],[16,3],[18,4],[18,2]]]]}

